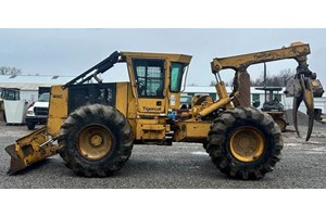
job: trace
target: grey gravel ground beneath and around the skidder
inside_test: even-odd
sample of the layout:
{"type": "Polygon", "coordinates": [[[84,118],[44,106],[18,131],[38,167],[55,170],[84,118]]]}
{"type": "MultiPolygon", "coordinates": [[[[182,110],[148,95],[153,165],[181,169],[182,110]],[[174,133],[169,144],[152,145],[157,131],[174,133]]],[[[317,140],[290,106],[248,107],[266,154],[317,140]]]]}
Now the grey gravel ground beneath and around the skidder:
{"type": "MultiPolygon", "coordinates": [[[[14,176],[5,175],[10,157],[4,148],[29,133],[26,126],[0,123],[1,189],[319,189],[326,188],[326,125],[312,138],[298,138],[293,127],[283,133],[283,159],[258,181],[231,180],[221,174],[200,144],[135,145],[126,165],[113,177],[77,177],[52,156],[14,176]]],[[[304,135],[305,126],[300,126],[304,135]]]]}

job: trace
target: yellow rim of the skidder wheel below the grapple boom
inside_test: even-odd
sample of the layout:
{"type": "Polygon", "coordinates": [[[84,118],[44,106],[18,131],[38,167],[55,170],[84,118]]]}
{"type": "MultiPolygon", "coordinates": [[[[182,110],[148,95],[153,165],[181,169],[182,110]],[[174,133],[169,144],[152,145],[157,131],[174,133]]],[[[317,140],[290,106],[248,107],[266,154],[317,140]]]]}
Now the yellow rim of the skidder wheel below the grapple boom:
{"type": "Polygon", "coordinates": [[[254,162],[264,152],[264,137],[253,127],[240,127],[233,132],[229,148],[233,156],[238,161],[254,162]]]}

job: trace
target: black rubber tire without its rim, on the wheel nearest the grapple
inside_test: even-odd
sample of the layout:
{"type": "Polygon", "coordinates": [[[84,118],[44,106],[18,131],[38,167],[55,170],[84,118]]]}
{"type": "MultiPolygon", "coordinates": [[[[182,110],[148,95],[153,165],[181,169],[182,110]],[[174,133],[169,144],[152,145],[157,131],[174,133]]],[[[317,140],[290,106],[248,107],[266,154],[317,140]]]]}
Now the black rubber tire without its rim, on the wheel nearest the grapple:
{"type": "Polygon", "coordinates": [[[260,179],[274,170],[284,145],[280,129],[272,116],[253,107],[236,107],[222,113],[213,122],[208,140],[206,152],[212,162],[235,179],[260,179]],[[252,162],[238,161],[229,148],[233,131],[242,126],[251,126],[264,137],[263,153],[252,162]]]}

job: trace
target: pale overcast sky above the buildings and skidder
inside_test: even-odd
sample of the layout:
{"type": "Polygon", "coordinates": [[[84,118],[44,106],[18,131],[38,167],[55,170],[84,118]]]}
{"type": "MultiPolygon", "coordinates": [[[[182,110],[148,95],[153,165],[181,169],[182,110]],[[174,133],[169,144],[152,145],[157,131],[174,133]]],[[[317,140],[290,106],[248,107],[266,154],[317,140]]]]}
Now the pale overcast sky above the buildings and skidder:
{"type": "MultiPolygon", "coordinates": [[[[310,69],[326,84],[326,29],[0,29],[0,66],[21,68],[23,74],[76,76],[113,51],[168,52],[192,55],[187,84],[209,86],[214,76],[210,62],[250,52],[278,49],[293,41],[310,43],[310,69]]],[[[286,60],[267,63],[269,74],[297,66],[286,60]]],[[[112,80],[128,80],[125,66],[104,74],[112,80]]],[[[263,65],[249,67],[252,78],[263,65]]],[[[230,81],[234,73],[226,71],[230,81]]]]}

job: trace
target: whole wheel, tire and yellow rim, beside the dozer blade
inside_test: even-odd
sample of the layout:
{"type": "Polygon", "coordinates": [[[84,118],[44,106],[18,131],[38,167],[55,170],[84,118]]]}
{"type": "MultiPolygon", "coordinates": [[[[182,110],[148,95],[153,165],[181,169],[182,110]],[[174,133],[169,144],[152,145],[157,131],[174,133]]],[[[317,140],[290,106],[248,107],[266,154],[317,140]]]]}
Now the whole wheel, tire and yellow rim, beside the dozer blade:
{"type": "Polygon", "coordinates": [[[86,177],[106,177],[121,169],[131,154],[133,141],[124,115],[101,104],[73,112],[58,139],[60,155],[67,167],[86,177]]]}

